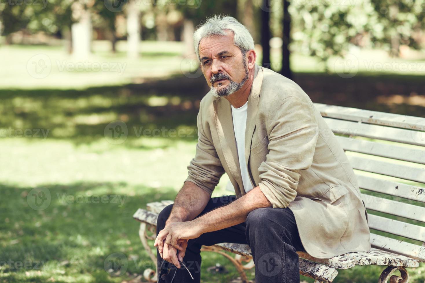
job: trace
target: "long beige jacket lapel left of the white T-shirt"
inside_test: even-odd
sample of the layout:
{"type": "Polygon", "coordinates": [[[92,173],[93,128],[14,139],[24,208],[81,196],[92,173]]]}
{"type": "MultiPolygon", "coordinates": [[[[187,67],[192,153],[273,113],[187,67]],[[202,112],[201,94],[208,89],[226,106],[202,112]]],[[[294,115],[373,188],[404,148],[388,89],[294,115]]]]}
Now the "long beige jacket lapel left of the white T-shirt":
{"type": "Polygon", "coordinates": [[[226,160],[227,167],[233,179],[239,185],[240,190],[244,187],[241,171],[239,169],[238,149],[236,147],[235,131],[233,129],[233,118],[231,104],[225,98],[217,98],[212,101],[214,105],[214,120],[220,140],[221,151],[226,160]]]}

